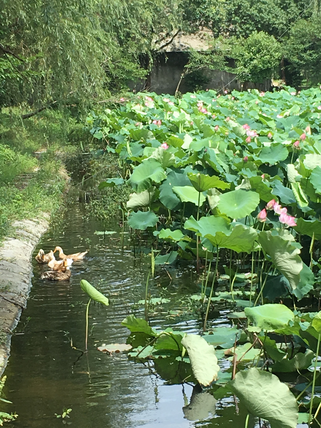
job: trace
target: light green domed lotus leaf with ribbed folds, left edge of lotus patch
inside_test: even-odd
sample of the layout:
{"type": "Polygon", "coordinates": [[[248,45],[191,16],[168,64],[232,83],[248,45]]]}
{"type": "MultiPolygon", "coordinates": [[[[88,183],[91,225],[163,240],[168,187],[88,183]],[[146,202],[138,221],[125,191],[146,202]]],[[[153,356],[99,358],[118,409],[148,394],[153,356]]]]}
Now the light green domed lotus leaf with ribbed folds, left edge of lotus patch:
{"type": "Polygon", "coordinates": [[[161,164],[156,159],[148,158],[136,166],[127,182],[135,192],[140,193],[149,189],[153,182],[160,183],[164,178],[166,174],[161,164]]]}

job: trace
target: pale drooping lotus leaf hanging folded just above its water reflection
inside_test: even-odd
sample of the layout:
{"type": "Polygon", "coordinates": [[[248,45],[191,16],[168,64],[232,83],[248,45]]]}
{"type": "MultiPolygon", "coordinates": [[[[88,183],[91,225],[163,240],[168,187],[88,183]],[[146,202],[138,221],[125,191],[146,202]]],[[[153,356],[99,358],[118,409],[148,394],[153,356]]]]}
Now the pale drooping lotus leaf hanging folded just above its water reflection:
{"type": "Polygon", "coordinates": [[[186,348],[195,378],[201,385],[208,386],[217,379],[220,366],[217,365],[215,349],[196,334],[187,334],[181,341],[186,348]]]}

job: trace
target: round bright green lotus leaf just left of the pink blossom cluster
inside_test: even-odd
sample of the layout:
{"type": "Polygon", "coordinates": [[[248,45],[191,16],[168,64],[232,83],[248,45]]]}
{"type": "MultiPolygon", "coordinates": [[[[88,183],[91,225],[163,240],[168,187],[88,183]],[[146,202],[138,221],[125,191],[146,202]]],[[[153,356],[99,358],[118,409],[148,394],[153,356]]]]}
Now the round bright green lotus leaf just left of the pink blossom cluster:
{"type": "Polygon", "coordinates": [[[217,208],[221,213],[238,219],[250,215],[259,205],[259,202],[259,193],[252,190],[238,189],[221,195],[217,208]]]}

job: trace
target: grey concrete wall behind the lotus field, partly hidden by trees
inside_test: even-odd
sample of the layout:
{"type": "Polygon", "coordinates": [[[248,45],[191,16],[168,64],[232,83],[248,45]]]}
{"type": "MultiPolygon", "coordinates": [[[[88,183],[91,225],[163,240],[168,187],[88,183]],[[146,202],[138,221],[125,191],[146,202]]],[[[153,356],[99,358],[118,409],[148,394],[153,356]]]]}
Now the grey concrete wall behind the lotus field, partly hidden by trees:
{"type": "MultiPolygon", "coordinates": [[[[152,69],[150,91],[157,94],[174,95],[187,59],[188,56],[185,52],[160,53],[152,69]]],[[[201,73],[207,80],[207,83],[201,85],[202,89],[242,90],[241,85],[243,82],[236,79],[236,74],[228,73],[227,71],[210,70],[208,68],[202,70],[201,73]]],[[[253,88],[257,88],[260,91],[270,90],[271,81],[265,80],[263,83],[247,83],[244,90],[253,88]]],[[[137,82],[131,89],[135,89],[137,92],[145,89],[145,81],[141,80],[137,82]]],[[[190,79],[188,77],[184,78],[179,91],[185,93],[193,90],[194,85],[190,82],[190,79]]]]}

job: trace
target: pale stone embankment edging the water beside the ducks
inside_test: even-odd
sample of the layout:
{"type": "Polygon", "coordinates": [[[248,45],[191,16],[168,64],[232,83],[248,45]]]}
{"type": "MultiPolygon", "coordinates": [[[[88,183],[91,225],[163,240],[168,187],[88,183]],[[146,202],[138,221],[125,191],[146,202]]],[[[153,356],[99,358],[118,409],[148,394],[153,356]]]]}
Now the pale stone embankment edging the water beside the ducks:
{"type": "Polygon", "coordinates": [[[6,238],[0,248],[0,376],[10,355],[13,330],[27,305],[33,276],[31,257],[49,227],[49,218],[15,221],[14,238],[6,238]]]}

